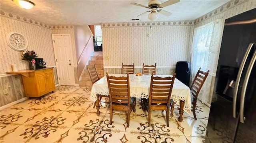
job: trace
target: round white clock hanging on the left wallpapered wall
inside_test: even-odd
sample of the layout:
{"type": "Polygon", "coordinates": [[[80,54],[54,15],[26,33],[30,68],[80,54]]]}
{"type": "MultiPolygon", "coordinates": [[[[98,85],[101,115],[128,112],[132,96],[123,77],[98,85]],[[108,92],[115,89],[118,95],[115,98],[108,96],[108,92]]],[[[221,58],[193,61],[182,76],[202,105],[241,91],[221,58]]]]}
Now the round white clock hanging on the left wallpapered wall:
{"type": "Polygon", "coordinates": [[[12,32],[7,35],[7,43],[16,51],[23,51],[28,47],[28,40],[20,33],[12,32]]]}

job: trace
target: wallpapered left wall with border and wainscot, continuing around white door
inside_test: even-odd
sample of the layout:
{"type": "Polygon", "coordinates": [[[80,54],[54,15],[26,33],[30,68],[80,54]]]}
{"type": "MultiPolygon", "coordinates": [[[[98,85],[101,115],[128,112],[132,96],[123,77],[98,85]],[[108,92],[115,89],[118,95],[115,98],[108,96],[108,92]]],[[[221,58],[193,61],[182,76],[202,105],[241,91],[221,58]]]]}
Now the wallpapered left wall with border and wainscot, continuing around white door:
{"type": "MultiPolygon", "coordinates": [[[[5,74],[11,71],[11,64],[16,64],[18,70],[28,69],[28,62],[21,60],[21,52],[11,49],[6,37],[10,32],[22,33],[28,39],[28,50],[34,50],[38,57],[44,58],[46,66],[55,66],[52,33],[70,33],[73,47],[74,65],[76,65],[73,25],[47,25],[28,18],[0,11],[0,106],[4,106],[25,97],[20,74],[5,74]],[[3,94],[7,90],[8,94],[3,94]]],[[[76,71],[76,67],[74,67],[76,71]]],[[[56,68],[54,68],[55,83],[56,68]]],[[[75,75],[77,76],[77,75],[75,75]]],[[[76,81],[77,82],[77,81],[76,81]]]]}

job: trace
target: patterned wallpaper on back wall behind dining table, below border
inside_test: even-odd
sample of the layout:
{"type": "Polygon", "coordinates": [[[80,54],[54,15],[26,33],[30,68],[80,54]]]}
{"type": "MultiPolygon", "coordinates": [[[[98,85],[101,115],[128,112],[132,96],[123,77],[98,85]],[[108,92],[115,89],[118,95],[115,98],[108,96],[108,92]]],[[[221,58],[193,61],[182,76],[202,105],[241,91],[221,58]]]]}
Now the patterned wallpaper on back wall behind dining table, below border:
{"type": "MultiPolygon", "coordinates": [[[[152,25],[152,22],[148,23],[152,25]]],[[[104,68],[121,66],[122,62],[140,67],[143,63],[175,67],[177,61],[189,61],[194,27],[189,22],[186,25],[184,22],[182,25],[171,23],[166,26],[143,27],[102,24],[104,68]]]]}

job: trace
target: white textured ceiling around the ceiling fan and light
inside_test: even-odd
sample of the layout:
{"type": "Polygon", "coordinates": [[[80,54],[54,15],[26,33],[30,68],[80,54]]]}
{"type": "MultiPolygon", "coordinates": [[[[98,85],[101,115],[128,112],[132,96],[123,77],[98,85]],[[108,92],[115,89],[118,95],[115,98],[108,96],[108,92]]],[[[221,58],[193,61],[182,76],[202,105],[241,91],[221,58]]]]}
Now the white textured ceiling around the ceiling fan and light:
{"type": "MultiPolygon", "coordinates": [[[[12,0],[0,0],[0,9],[50,25],[98,25],[109,22],[148,22],[147,14],[137,17],[149,9],[131,5],[135,2],[148,5],[149,0],[30,0],[36,4],[30,10],[16,6],[12,0]]],[[[160,0],[165,2],[166,0],[160,0]]],[[[159,14],[155,21],[195,20],[230,0],[180,0],[164,7],[171,12],[166,17],[159,14]]]]}

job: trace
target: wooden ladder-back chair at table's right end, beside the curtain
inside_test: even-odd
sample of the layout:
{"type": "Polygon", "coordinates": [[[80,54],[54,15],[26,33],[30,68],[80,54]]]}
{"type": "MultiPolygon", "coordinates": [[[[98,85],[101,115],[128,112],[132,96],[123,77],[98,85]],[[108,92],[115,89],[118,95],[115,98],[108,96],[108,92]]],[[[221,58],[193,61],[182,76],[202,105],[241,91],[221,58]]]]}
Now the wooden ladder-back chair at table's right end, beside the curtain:
{"type": "Polygon", "coordinates": [[[208,74],[209,74],[209,70],[207,72],[201,71],[201,68],[199,68],[199,70],[196,73],[196,76],[190,86],[190,90],[191,90],[191,94],[193,96],[193,101],[192,101],[192,111],[193,111],[193,115],[194,118],[196,119],[196,101],[197,101],[197,96],[204,84],[204,81],[206,80],[208,74]]]}

